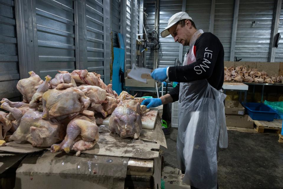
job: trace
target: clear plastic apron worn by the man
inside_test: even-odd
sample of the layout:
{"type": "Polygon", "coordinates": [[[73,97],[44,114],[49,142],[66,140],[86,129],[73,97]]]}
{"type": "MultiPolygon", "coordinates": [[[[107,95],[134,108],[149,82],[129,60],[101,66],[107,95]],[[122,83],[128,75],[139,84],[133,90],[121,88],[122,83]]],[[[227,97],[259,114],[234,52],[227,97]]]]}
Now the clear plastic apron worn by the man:
{"type": "MultiPolygon", "coordinates": [[[[202,30],[190,41],[183,65],[196,61],[193,45],[202,30]]],[[[178,168],[185,170],[183,182],[196,188],[217,188],[217,142],[228,147],[224,104],[226,95],[206,79],[180,83],[179,128],[177,138],[178,168]]]]}

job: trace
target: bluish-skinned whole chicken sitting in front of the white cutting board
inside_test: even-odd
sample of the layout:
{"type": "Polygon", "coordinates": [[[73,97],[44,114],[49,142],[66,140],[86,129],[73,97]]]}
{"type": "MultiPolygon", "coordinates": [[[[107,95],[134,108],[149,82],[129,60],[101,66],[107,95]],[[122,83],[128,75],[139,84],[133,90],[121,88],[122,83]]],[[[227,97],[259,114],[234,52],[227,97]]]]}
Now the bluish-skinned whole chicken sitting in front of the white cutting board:
{"type": "Polygon", "coordinates": [[[142,129],[140,103],[136,100],[121,101],[109,120],[109,130],[121,138],[138,139],[142,129]]]}

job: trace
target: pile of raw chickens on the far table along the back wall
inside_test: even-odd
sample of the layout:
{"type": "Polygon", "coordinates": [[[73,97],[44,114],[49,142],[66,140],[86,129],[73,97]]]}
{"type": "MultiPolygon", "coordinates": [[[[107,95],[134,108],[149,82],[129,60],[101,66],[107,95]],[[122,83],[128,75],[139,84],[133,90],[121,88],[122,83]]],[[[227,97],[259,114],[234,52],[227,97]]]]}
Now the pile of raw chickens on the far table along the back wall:
{"type": "Polygon", "coordinates": [[[259,72],[257,69],[247,69],[246,66],[237,66],[236,68],[224,66],[224,73],[224,81],[256,83],[281,83],[282,81],[282,76],[270,77],[265,71],[259,72]]]}

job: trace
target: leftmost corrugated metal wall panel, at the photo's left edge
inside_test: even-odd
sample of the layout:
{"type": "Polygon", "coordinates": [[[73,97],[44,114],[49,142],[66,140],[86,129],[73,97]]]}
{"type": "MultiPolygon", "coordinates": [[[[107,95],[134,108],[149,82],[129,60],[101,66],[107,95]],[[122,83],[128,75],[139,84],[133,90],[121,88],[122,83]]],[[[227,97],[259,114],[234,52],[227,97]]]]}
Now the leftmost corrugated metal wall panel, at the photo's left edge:
{"type": "Polygon", "coordinates": [[[19,78],[14,1],[0,0],[0,99],[21,99],[16,88],[19,78]]]}

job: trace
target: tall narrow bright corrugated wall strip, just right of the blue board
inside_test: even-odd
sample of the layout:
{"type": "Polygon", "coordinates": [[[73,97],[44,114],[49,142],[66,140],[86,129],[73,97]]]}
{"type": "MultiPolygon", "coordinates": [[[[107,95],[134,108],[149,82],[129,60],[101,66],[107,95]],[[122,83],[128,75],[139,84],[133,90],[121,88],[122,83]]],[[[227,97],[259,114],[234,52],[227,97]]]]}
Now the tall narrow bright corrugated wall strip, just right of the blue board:
{"type": "Polygon", "coordinates": [[[131,69],[131,45],[132,45],[132,1],[126,0],[126,61],[125,68],[131,69]]]}

